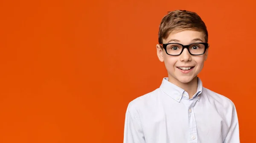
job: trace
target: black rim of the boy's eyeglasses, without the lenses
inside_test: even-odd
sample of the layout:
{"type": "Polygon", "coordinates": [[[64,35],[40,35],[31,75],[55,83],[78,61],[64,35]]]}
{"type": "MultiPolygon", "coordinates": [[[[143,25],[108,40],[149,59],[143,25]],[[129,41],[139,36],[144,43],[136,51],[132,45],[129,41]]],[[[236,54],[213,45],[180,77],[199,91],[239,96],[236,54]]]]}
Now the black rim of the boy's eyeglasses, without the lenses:
{"type": "MultiPolygon", "coordinates": [[[[166,51],[167,55],[170,55],[170,56],[179,56],[179,55],[181,55],[181,53],[183,52],[183,50],[184,50],[185,48],[187,48],[188,51],[189,51],[189,46],[190,46],[190,45],[193,45],[193,44],[203,44],[204,47],[205,47],[205,48],[204,48],[204,53],[205,53],[205,51],[207,50],[207,48],[209,48],[209,44],[208,44],[208,43],[204,43],[204,42],[191,43],[191,44],[189,44],[189,45],[182,45],[182,44],[180,44],[180,43],[166,43],[166,44],[159,44],[159,45],[160,45],[162,48],[164,48],[164,50],[166,51]],[[167,45],[170,45],[170,44],[178,44],[178,45],[181,45],[181,46],[182,46],[182,50],[181,50],[180,54],[171,55],[171,54],[167,53],[166,47],[167,47],[167,45]]],[[[190,51],[189,51],[189,53],[190,53],[190,51]]],[[[202,54],[192,54],[192,53],[190,53],[190,54],[193,55],[193,56],[199,56],[199,55],[204,55],[204,53],[202,53],[202,54]]]]}

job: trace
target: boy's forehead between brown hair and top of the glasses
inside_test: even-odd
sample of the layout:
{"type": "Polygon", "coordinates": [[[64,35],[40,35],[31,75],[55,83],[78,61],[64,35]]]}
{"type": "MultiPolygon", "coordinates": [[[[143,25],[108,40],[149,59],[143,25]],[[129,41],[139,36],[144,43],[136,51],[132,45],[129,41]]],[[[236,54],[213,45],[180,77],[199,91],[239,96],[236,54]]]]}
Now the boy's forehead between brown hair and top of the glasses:
{"type": "Polygon", "coordinates": [[[195,30],[172,31],[163,43],[178,42],[189,44],[191,42],[205,42],[204,32],[195,30]]]}

